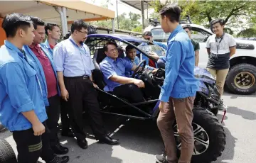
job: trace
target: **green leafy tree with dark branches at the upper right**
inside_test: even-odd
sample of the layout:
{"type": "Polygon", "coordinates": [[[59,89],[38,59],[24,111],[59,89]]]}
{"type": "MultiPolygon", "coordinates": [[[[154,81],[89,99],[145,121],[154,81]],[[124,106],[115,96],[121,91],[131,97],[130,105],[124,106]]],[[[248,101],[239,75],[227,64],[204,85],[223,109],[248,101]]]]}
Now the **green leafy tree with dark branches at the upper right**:
{"type": "MultiPolygon", "coordinates": [[[[166,1],[170,4],[171,1],[166,1]]],[[[159,1],[151,1],[155,12],[159,12],[166,5],[159,1]]],[[[181,16],[191,16],[193,23],[210,27],[210,21],[223,18],[226,25],[232,28],[252,26],[256,22],[255,1],[178,1],[181,6],[181,16]],[[246,21],[244,21],[246,20],[246,21]]]]}

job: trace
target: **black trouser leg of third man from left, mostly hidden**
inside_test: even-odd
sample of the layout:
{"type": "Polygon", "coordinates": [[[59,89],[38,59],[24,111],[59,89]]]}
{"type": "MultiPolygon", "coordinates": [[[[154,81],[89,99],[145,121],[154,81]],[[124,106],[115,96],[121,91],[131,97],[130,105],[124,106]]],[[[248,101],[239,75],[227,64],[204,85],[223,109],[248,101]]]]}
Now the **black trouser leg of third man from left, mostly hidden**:
{"type": "Polygon", "coordinates": [[[70,118],[68,118],[68,103],[60,98],[60,119],[62,131],[68,132],[70,128],[70,118]]]}

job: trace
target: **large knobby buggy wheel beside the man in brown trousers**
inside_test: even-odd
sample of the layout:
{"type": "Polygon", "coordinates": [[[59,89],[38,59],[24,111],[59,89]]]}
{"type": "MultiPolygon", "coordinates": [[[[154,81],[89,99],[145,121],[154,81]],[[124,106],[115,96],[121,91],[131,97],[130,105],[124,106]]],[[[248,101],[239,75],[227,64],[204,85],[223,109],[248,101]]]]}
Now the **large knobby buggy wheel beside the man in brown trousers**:
{"type": "MultiPolygon", "coordinates": [[[[193,109],[194,150],[191,162],[213,162],[225,149],[225,131],[213,113],[203,108],[193,109]]],[[[174,125],[178,156],[180,155],[181,139],[174,125]]]]}

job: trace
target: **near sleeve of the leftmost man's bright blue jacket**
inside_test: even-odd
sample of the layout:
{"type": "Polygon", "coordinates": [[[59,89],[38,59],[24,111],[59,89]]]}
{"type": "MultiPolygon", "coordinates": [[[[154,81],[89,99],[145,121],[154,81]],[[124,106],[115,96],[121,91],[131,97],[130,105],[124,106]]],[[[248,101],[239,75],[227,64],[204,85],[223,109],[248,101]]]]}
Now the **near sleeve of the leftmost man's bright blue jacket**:
{"type": "Polygon", "coordinates": [[[28,93],[25,76],[18,63],[4,64],[0,69],[0,78],[10,98],[11,106],[16,108],[18,113],[32,111],[35,108],[28,93]]]}

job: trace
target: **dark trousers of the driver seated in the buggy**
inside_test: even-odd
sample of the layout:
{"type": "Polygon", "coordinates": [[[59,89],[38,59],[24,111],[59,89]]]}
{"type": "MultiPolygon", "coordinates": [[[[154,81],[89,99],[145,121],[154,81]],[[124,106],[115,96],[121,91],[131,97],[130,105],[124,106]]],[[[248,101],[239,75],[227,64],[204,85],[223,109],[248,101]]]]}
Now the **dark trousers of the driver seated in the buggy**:
{"type": "Polygon", "coordinates": [[[124,84],[121,86],[117,86],[114,88],[113,94],[128,99],[133,103],[145,101],[142,91],[135,84],[124,84]]]}

